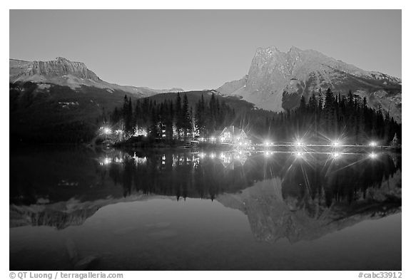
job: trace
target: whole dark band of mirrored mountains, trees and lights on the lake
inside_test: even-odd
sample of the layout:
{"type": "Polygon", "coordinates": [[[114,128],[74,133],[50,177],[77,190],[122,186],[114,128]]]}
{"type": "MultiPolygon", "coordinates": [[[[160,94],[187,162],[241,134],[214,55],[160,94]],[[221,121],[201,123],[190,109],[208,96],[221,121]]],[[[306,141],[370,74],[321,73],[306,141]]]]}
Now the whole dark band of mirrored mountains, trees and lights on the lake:
{"type": "Polygon", "coordinates": [[[401,211],[400,155],[78,148],[47,154],[11,153],[10,227],[64,229],[109,204],[198,198],[243,212],[257,240],[298,242],[401,211]]]}

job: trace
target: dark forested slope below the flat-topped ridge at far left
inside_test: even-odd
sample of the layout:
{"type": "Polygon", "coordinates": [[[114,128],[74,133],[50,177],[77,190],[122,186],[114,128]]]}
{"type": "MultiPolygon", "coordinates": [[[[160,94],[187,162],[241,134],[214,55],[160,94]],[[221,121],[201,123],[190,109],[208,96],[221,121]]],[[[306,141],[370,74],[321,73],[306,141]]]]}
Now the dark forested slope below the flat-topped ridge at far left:
{"type": "Polygon", "coordinates": [[[102,108],[112,100],[102,98],[98,88],[85,95],[68,86],[48,86],[41,90],[37,83],[9,83],[11,145],[81,143],[96,136],[101,120],[94,120],[101,110],[90,100],[100,98],[94,101],[102,108]]]}

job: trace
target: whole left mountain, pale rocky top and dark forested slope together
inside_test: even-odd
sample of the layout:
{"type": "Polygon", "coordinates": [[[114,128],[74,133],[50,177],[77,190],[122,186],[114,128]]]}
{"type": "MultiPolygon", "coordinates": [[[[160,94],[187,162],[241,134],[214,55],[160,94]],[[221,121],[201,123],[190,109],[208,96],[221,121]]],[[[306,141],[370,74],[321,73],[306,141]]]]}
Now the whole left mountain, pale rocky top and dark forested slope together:
{"type": "Polygon", "coordinates": [[[93,138],[98,118],[132,100],[158,93],[107,83],[84,63],[9,60],[10,137],[16,142],[84,142],[93,138]]]}

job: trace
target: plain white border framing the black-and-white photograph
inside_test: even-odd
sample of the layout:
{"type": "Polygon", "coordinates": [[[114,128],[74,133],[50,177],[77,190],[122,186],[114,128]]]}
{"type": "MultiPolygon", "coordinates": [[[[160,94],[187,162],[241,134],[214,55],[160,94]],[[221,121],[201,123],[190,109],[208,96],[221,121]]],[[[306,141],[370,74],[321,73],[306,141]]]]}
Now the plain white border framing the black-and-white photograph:
{"type": "MultiPolygon", "coordinates": [[[[1,128],[4,131],[4,137],[1,138],[1,147],[6,152],[6,159],[1,162],[1,179],[3,184],[3,203],[1,204],[1,245],[3,252],[1,252],[1,279],[9,279],[9,102],[6,93],[5,85],[6,77],[9,73],[9,9],[402,9],[402,186],[403,197],[405,198],[405,207],[402,209],[402,278],[407,279],[407,259],[409,260],[410,242],[407,237],[410,237],[410,210],[407,207],[407,201],[410,201],[410,191],[408,190],[408,183],[411,174],[410,164],[407,162],[407,157],[410,155],[410,95],[409,71],[405,66],[410,65],[410,33],[408,29],[410,24],[410,1],[222,1],[222,0],[208,0],[208,1],[189,1],[189,0],[173,0],[173,1],[7,1],[1,4],[0,14],[0,29],[1,37],[4,41],[1,46],[1,85],[4,86],[4,99],[1,104],[1,128]],[[233,4],[235,3],[235,4],[233,4]],[[7,41],[5,38],[8,38],[7,41]],[[7,96],[7,98],[5,98],[7,96]],[[7,128],[7,130],[6,130],[7,128]],[[7,134],[7,135],[6,135],[7,134]]],[[[107,271],[108,272],[108,271],[107,271]]],[[[358,279],[357,271],[123,271],[124,279],[138,279],[142,277],[158,277],[167,279],[181,279],[192,278],[207,279],[213,278],[228,278],[235,277],[236,279],[358,279]]]]}

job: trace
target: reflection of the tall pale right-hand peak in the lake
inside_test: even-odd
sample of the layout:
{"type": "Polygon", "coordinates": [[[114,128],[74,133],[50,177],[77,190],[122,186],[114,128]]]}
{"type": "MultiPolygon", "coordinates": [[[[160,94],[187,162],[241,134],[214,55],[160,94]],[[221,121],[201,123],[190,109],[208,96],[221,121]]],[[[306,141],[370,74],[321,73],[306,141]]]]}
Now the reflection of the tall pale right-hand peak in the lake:
{"type": "Polygon", "coordinates": [[[238,209],[248,217],[256,240],[290,243],[314,240],[368,219],[380,219],[401,212],[401,172],[367,190],[367,197],[356,202],[334,202],[325,207],[324,197],[308,198],[301,204],[287,197],[287,187],[279,178],[256,182],[239,193],[225,193],[217,201],[238,209]],[[303,206],[302,206],[303,205],[303,206]],[[313,211],[313,209],[315,209],[313,211]]]}

